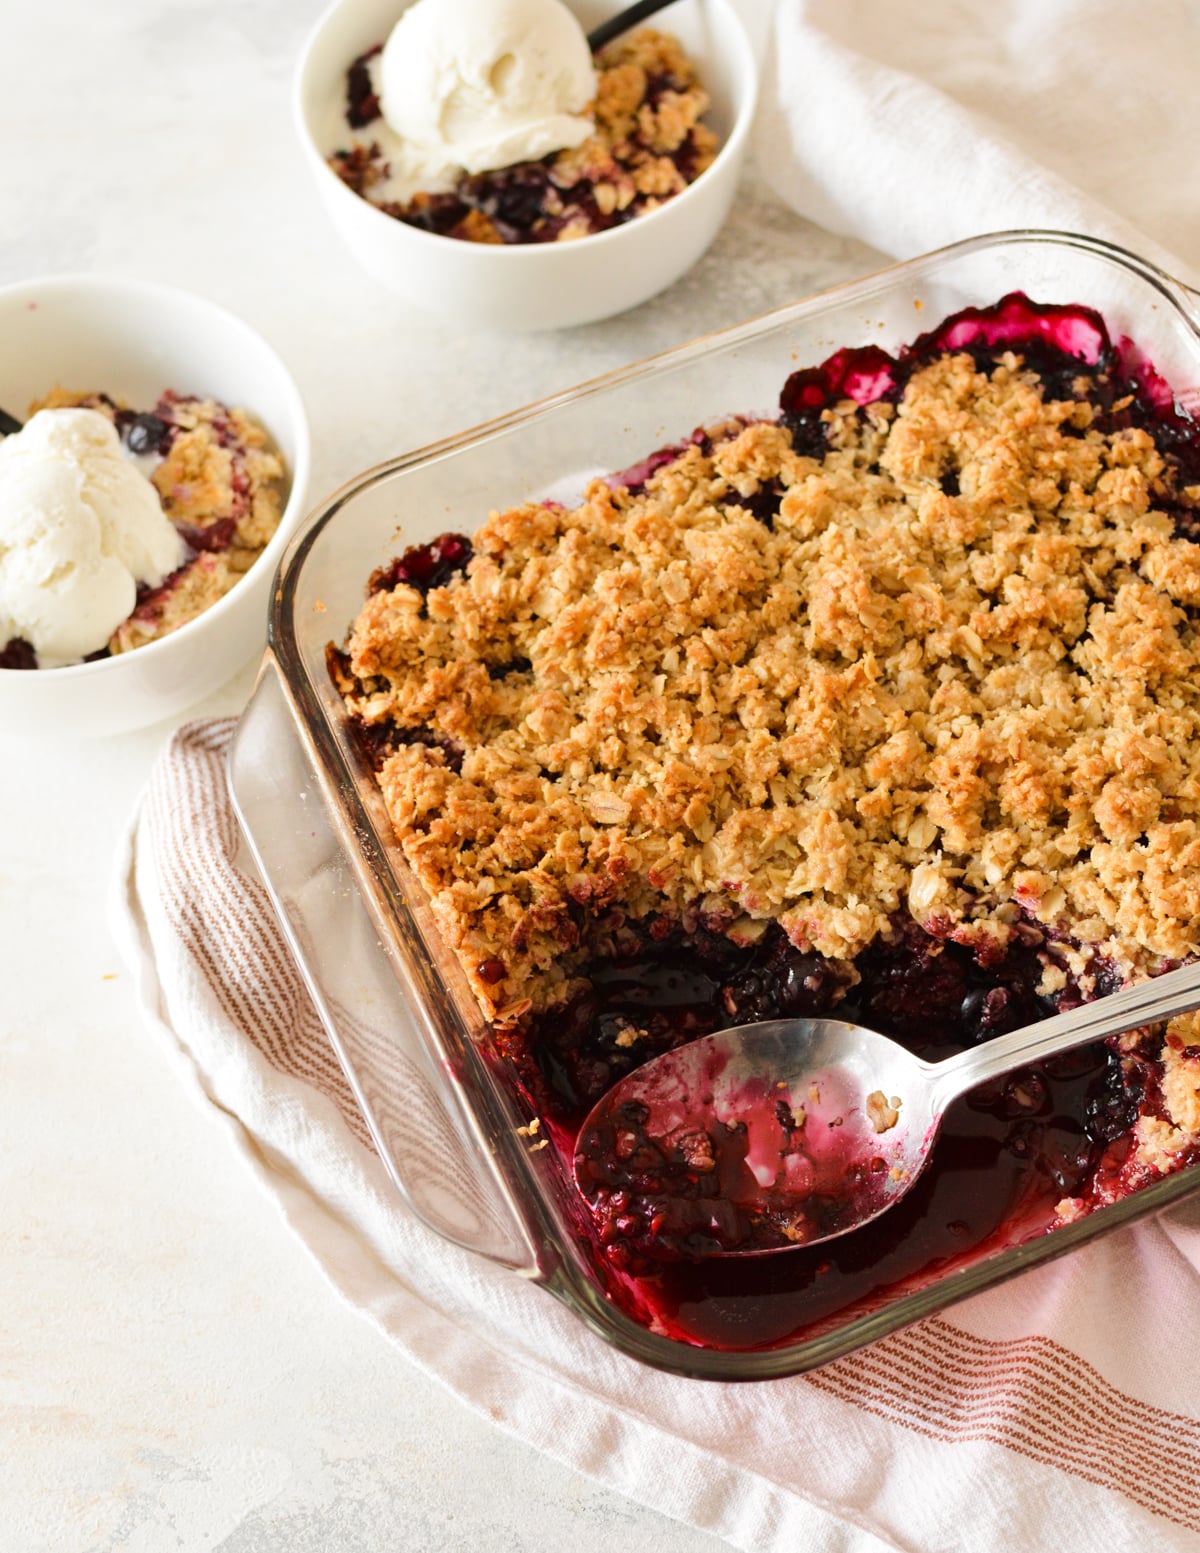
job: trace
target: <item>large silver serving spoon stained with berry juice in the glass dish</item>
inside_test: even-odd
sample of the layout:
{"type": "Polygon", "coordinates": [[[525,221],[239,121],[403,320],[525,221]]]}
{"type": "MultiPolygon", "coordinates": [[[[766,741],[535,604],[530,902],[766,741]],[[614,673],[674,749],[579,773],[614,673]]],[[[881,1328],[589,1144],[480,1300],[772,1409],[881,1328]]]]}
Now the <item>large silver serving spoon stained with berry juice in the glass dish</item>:
{"type": "Polygon", "coordinates": [[[1194,1008],[1200,964],[944,1062],[924,1062],[838,1019],[720,1030],[663,1053],[609,1090],[579,1131],[576,1183],[595,1205],[605,1190],[649,1180],[633,1191],[668,1199],[668,1233],[685,1255],[812,1246],[899,1202],[928,1162],[947,1107],[976,1084],[1194,1008]],[[697,1202],[699,1177],[706,1179],[697,1202]]]}

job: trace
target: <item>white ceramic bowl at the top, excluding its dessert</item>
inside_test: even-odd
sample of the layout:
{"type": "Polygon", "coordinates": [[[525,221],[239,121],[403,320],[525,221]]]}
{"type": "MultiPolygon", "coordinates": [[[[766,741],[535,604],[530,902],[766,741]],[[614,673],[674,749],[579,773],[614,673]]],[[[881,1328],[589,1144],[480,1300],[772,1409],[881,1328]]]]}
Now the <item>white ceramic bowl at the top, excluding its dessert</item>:
{"type": "MultiPolygon", "coordinates": [[[[295,120],[321,199],[357,259],[407,301],[464,326],[560,329],[607,318],[663,290],[705,252],[728,214],[754,115],[758,71],[728,0],[678,0],[652,25],[685,45],[720,137],[716,162],[682,194],[623,227],[546,244],[478,244],[421,231],[354,194],[326,157],[346,144],[349,64],[382,42],[411,0],[335,0],[309,36],[295,120]]],[[[619,6],[567,0],[585,28],[619,6]]]]}

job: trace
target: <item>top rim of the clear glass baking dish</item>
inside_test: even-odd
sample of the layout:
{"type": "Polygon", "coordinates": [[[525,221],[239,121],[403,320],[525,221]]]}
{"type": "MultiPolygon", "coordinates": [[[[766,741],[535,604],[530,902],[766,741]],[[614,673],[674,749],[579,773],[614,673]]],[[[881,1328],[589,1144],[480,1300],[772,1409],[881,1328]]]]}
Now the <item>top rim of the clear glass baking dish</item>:
{"type": "MultiPolygon", "coordinates": [[[[1200,345],[1200,309],[1195,307],[1197,294],[1153,262],[1116,244],[1077,233],[1037,228],[990,233],[949,244],[916,259],[891,264],[866,276],[840,283],[798,303],[772,309],[744,323],[640,359],[627,367],[550,394],[534,404],[523,405],[518,410],[455,433],[453,436],[385,460],[342,485],[309,516],[301,533],[289,545],[276,573],[269,620],[267,662],[273,663],[279,676],[279,683],[301,744],[318,775],[328,804],[335,811],[331,818],[338,825],[343,845],[354,848],[351,862],[360,882],[366,882],[371,874],[376,876],[371,881],[374,888],[363,891],[368,910],[373,910],[373,901],[377,910],[380,899],[401,896],[402,891],[396,884],[387,846],[377,834],[377,826],[363,801],[363,794],[359,787],[362,772],[355,770],[346,758],[345,741],[337,736],[329,721],[328,708],[315,693],[303,649],[298,646],[292,626],[295,595],[304,561],[318,536],[334,522],[342,508],[355,495],[404,471],[450,458],[467,447],[478,447],[492,438],[528,426],[543,416],[553,415],[560,407],[588,396],[610,391],[638,379],[652,379],[657,373],[682,367],[691,359],[770,334],[786,328],[793,320],[820,312],[821,307],[832,307],[852,300],[857,294],[886,289],[902,278],[907,280],[919,276],[924,270],[935,270],[950,258],[984,248],[1031,242],[1090,252],[1133,272],[1139,280],[1163,294],[1195,337],[1197,345],[1200,345]],[[379,877],[380,868],[390,876],[390,884],[388,879],[379,877]]],[[[391,932],[397,930],[394,919],[382,926],[391,932]]],[[[418,938],[424,949],[424,940],[419,933],[418,938]]],[[[461,1061],[461,1053],[450,1054],[441,1050],[436,1031],[430,1031],[430,1034],[442,1072],[453,1072],[455,1059],[461,1061]]],[[[478,1064],[480,1070],[483,1070],[484,1064],[475,1048],[475,1042],[469,1039],[467,1031],[463,1031],[463,1045],[469,1054],[467,1061],[478,1064]]],[[[338,1042],[335,1041],[334,1044],[340,1054],[338,1042]]],[[[461,1115],[466,1110],[475,1132],[475,1141],[481,1145],[487,1129],[481,1126],[478,1117],[470,1114],[461,1081],[455,1084],[455,1090],[458,1112],[461,1115]]],[[[444,1103],[449,1103],[449,1096],[444,1096],[444,1103]]],[[[477,1166],[480,1169],[491,1168],[492,1176],[497,1176],[495,1162],[489,1157],[494,1151],[484,1148],[483,1154],[484,1157],[475,1162],[477,1166]]],[[[529,1241],[531,1247],[537,1246],[540,1252],[550,1253],[536,1267],[520,1269],[526,1277],[542,1283],[548,1292],[564,1300],[591,1331],[598,1332],[619,1351],[660,1370],[695,1379],[720,1381],[778,1379],[824,1365],[865,1343],[922,1320],[970,1294],[1008,1281],[1008,1278],[1018,1275],[1028,1267],[1065,1255],[1096,1235],[1108,1233],[1124,1224],[1160,1211],[1178,1197],[1200,1188],[1200,1166],[1184,1168],[1119,1202],[1096,1210],[1074,1224],[1057,1225],[1053,1233],[986,1255],[972,1266],[936,1277],[935,1281],[921,1289],[899,1294],[894,1298],[885,1297],[877,1309],[866,1314],[860,1312],[829,1331],[818,1331],[815,1336],[801,1337],[793,1343],[776,1348],[725,1351],[692,1346],[675,1339],[661,1337],[610,1305],[598,1289],[591,1287],[587,1280],[568,1267],[567,1259],[559,1253],[559,1228],[542,1202],[540,1185],[529,1169],[529,1162],[523,1151],[512,1149],[512,1155],[505,1160],[505,1166],[509,1190],[505,1190],[505,1183],[501,1183],[501,1190],[505,1190],[509,1207],[520,1219],[526,1241],[529,1241]],[[515,1193],[512,1191],[514,1180],[515,1193]]]]}

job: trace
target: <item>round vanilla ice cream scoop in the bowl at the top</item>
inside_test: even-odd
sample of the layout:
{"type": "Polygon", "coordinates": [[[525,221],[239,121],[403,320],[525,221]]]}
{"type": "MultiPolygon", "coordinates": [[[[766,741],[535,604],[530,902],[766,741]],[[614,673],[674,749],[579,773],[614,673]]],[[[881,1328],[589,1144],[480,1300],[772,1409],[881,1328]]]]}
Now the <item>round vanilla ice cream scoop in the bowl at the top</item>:
{"type": "Polygon", "coordinates": [[[560,0],[416,0],[379,62],[388,127],[446,186],[581,144],[595,95],[587,37],[560,0]]]}

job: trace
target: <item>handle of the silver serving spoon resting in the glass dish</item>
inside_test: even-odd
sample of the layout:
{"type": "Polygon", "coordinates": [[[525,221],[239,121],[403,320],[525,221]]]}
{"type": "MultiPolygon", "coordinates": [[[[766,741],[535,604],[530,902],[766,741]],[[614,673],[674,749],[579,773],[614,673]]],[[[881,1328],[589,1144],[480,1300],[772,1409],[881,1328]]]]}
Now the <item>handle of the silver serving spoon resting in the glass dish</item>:
{"type": "Polygon", "coordinates": [[[941,1115],[952,1100],[984,1079],[1011,1073],[1012,1068],[1056,1051],[1070,1051],[1088,1041],[1102,1041],[1105,1036],[1136,1030],[1138,1025],[1153,1025],[1175,1014],[1186,1014],[1192,1008],[1200,1008],[1200,963],[1125,986],[1066,1014],[1023,1025],[981,1047],[959,1051],[945,1062],[925,1064],[925,1076],[933,1087],[933,1115],[941,1115]]]}

